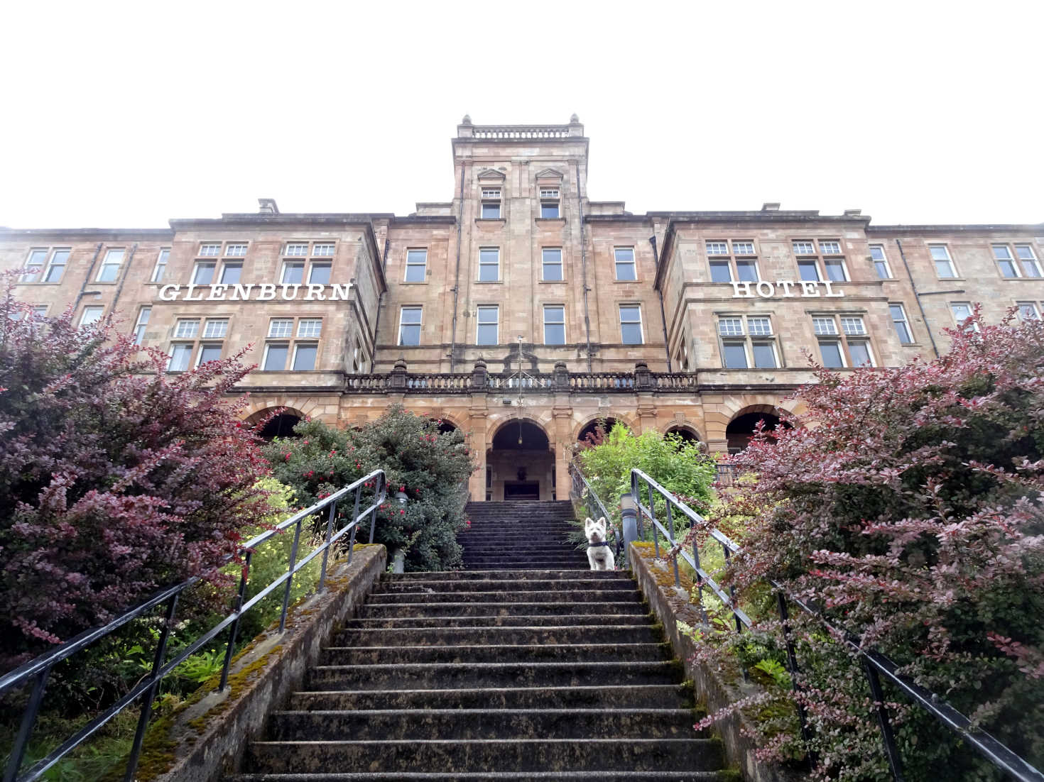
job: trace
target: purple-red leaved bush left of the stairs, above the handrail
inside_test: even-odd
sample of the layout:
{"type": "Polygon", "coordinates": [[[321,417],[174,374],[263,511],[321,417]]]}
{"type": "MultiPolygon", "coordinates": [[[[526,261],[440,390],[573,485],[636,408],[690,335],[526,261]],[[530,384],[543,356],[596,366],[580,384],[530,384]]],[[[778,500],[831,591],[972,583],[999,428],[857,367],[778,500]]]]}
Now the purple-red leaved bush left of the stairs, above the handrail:
{"type": "MultiPolygon", "coordinates": [[[[166,374],[108,322],[0,291],[0,669],[234,554],[265,522],[240,357],[166,374]]],[[[213,591],[213,590],[212,590],[213,591]]],[[[219,592],[214,592],[217,594],[219,592]]]]}

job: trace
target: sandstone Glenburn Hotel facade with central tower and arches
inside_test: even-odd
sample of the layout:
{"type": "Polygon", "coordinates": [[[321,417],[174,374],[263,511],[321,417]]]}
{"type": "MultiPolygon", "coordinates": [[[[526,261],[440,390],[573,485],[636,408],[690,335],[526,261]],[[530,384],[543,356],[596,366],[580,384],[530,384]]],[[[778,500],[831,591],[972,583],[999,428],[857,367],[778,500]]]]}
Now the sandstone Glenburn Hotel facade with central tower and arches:
{"type": "MultiPolygon", "coordinates": [[[[464,431],[474,498],[566,491],[599,419],[741,448],[812,374],[947,348],[1044,307],[1044,224],[872,225],[766,203],[652,212],[587,192],[566,125],[474,125],[452,200],[408,216],[255,214],[164,229],[0,229],[19,298],[116,317],[170,371],[252,346],[250,414],[347,426],[393,402],[464,431]],[[559,487],[563,487],[560,491],[559,487]]],[[[287,419],[280,419],[286,422],[287,419]]]]}

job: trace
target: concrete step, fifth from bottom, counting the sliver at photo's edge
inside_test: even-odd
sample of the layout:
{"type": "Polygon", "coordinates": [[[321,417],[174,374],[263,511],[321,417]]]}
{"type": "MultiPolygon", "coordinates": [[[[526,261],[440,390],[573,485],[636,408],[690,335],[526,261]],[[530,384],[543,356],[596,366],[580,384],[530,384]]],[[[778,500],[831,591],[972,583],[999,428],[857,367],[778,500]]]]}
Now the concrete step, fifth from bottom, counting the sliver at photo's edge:
{"type": "Polygon", "coordinates": [[[638,662],[476,662],[316,665],[308,689],[452,689],[455,687],[565,687],[674,684],[678,660],[638,662]]]}

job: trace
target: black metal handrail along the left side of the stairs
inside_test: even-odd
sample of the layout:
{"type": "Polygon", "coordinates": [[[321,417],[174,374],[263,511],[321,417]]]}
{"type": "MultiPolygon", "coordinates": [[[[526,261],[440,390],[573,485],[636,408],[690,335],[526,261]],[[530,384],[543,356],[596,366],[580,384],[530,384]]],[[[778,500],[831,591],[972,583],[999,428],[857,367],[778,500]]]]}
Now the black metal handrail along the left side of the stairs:
{"type": "MultiPolygon", "coordinates": [[[[138,718],[138,729],[135,732],[134,743],[132,744],[126,771],[123,777],[124,782],[133,782],[135,771],[138,767],[138,759],[141,755],[142,741],[145,738],[145,730],[148,727],[148,719],[151,715],[152,700],[156,698],[156,693],[159,690],[160,683],[163,681],[164,677],[181,665],[190,656],[195,654],[204,646],[204,644],[213,640],[222,630],[229,628],[229,638],[224,651],[224,662],[221,666],[221,681],[218,686],[218,691],[223,690],[229,683],[229,667],[232,664],[232,655],[236,645],[236,632],[239,629],[239,620],[242,615],[260,603],[269,593],[275,591],[280,585],[285,583],[286,587],[283,591],[283,607],[279,617],[279,632],[282,633],[286,629],[286,613],[289,609],[290,591],[293,587],[294,575],[315,559],[315,557],[322,554],[323,566],[319,571],[319,582],[316,591],[323,592],[326,589],[327,564],[331,546],[348,535],[348,562],[351,563],[352,549],[355,545],[356,529],[366,516],[370,516],[370,542],[374,542],[377,509],[386,497],[387,478],[384,474],[384,470],[374,470],[369,475],[360,478],[355,483],[335,491],[333,494],[321,499],[310,508],[299,511],[285,521],[282,521],[274,527],[271,530],[261,533],[240,546],[237,556],[241,556],[243,558],[243,568],[239,579],[239,589],[235,597],[235,609],[232,613],[224,616],[224,618],[204,633],[199,638],[189,644],[181,654],[167,662],[164,662],[164,658],[166,656],[167,640],[170,636],[170,628],[173,626],[174,613],[177,609],[177,600],[181,597],[182,592],[199,581],[198,577],[193,577],[182,582],[181,584],[163,589],[141,605],[113,619],[104,627],[85,631],[50,652],[40,655],[15,670],[0,677],[0,694],[20,687],[22,684],[34,679],[32,684],[32,693],[30,694],[29,701],[22,712],[22,724],[19,728],[15,743],[11,747],[10,757],[8,758],[7,766],[4,771],[3,782],[30,782],[31,780],[40,779],[70,751],[90,738],[110,719],[134,703],[140,695],[144,695],[142,699],[141,715],[138,718]],[[374,490],[374,502],[369,508],[360,512],[359,503],[362,490],[363,488],[371,488],[369,486],[371,483],[373,483],[372,488],[374,490]],[[337,503],[351,492],[354,492],[355,494],[355,507],[352,519],[339,530],[334,532],[333,522],[337,515],[337,503]],[[301,542],[301,529],[304,521],[326,508],[329,508],[330,512],[327,516],[326,535],[323,543],[316,546],[313,552],[299,560],[298,547],[301,542]],[[288,530],[290,527],[294,528],[294,532],[293,545],[290,548],[288,569],[282,576],[265,586],[265,588],[256,595],[244,602],[243,597],[246,593],[246,584],[250,580],[251,558],[254,556],[254,549],[261,543],[264,543],[274,538],[276,535],[281,534],[284,530],[288,530]],[[19,776],[18,772],[22,765],[22,760],[25,757],[25,750],[32,734],[32,727],[37,720],[40,705],[43,702],[44,689],[47,686],[47,678],[50,675],[51,668],[53,668],[54,665],[62,660],[71,657],[86,646],[89,646],[95,641],[112,634],[114,631],[123,627],[132,619],[145,615],[151,609],[164,603],[166,603],[165,620],[163,622],[163,630],[160,633],[160,638],[157,642],[156,654],[153,656],[152,666],[149,669],[148,676],[138,682],[138,684],[132,687],[126,694],[105,709],[105,711],[97,715],[94,719],[80,728],[79,731],[66,739],[57,749],[47,755],[47,757],[38,761],[23,776],[19,776]]],[[[233,559],[234,557],[232,556],[226,557],[223,559],[223,563],[227,564],[233,559]]]]}

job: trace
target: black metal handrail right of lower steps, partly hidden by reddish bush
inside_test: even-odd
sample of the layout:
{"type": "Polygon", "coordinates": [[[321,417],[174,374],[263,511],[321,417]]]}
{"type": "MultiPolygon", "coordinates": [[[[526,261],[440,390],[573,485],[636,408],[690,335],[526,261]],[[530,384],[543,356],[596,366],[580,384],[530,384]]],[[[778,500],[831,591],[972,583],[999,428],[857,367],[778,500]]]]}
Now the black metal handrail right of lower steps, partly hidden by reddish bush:
{"type": "MultiPolygon", "coordinates": [[[[638,509],[639,519],[644,516],[651,522],[652,540],[658,558],[660,557],[660,542],[657,538],[657,532],[659,531],[663,533],[663,535],[670,542],[669,555],[673,560],[674,585],[681,585],[681,579],[678,571],[679,555],[681,555],[682,559],[684,559],[695,571],[696,587],[699,590],[699,611],[703,616],[704,625],[707,625],[707,614],[703,608],[704,587],[706,586],[710,588],[710,590],[714,592],[715,596],[721,601],[722,605],[725,605],[730,612],[732,612],[733,619],[736,622],[737,633],[741,633],[743,628],[750,628],[753,621],[751,617],[748,616],[742,609],[740,609],[736,600],[735,589],[730,587],[729,592],[726,593],[726,591],[721,588],[721,585],[715,582],[714,579],[711,578],[711,576],[704,570],[703,567],[701,567],[699,549],[695,537],[693,537],[692,540],[691,556],[682,545],[677,544],[674,541],[672,508],[675,512],[681,513],[689,519],[690,527],[694,523],[705,522],[704,517],[684,503],[679,502],[670,491],[662,487],[637,468],[633,468],[631,470],[631,496],[638,509]],[[640,482],[645,484],[648,506],[641,504],[640,482]],[[656,517],[656,497],[654,492],[659,494],[664,499],[664,510],[667,520],[666,527],[656,517]]],[[[740,547],[720,531],[711,529],[708,531],[708,534],[721,544],[721,552],[725,556],[726,564],[729,563],[733,555],[740,553],[740,547]]],[[[822,612],[815,610],[793,595],[788,594],[779,582],[768,577],[764,578],[776,592],[776,604],[779,611],[780,621],[782,622],[783,640],[786,646],[787,669],[790,673],[790,682],[794,691],[800,690],[800,685],[798,683],[799,669],[797,653],[793,641],[790,637],[790,621],[787,612],[788,602],[798,606],[798,608],[810,616],[813,616],[830,632],[832,637],[839,639],[848,649],[856,653],[859,657],[859,660],[862,663],[863,674],[865,675],[867,682],[870,685],[871,695],[876,704],[878,725],[881,729],[881,741],[884,746],[884,754],[888,759],[888,766],[892,771],[892,777],[894,780],[901,782],[903,779],[902,761],[899,757],[899,750],[896,746],[895,736],[892,732],[888,714],[884,708],[884,694],[881,690],[881,676],[896,685],[907,695],[907,698],[935,717],[935,719],[942,725],[946,726],[946,728],[950,731],[974,747],[980,755],[987,758],[987,760],[1001,771],[1010,774],[1012,778],[1020,780],[1020,782],[1044,782],[1044,773],[1033,766],[1028,761],[1017,755],[1004,743],[994,738],[986,731],[973,728],[971,720],[968,719],[968,717],[947,704],[934,692],[916,684],[907,677],[899,674],[899,666],[895,662],[872,649],[862,647],[859,642],[852,638],[848,633],[839,630],[827,621],[822,612]]],[[[807,741],[809,739],[808,722],[806,719],[805,709],[801,705],[800,701],[798,704],[798,716],[801,722],[802,737],[807,741]]]]}

